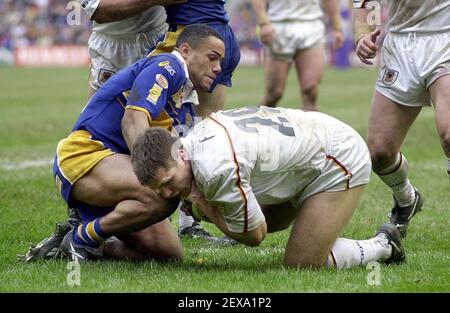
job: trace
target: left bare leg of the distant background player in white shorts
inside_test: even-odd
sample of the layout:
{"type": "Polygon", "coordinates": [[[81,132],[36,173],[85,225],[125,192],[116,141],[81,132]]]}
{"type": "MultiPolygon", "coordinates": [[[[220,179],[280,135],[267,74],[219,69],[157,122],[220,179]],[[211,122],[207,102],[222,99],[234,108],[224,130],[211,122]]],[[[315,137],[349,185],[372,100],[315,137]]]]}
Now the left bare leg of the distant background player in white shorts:
{"type": "Polygon", "coordinates": [[[270,52],[264,56],[264,97],[261,105],[276,107],[286,88],[291,61],[273,57],[270,52]]]}

